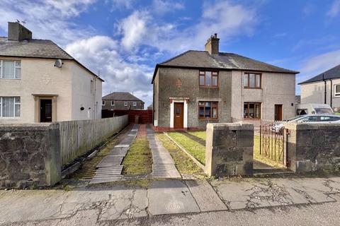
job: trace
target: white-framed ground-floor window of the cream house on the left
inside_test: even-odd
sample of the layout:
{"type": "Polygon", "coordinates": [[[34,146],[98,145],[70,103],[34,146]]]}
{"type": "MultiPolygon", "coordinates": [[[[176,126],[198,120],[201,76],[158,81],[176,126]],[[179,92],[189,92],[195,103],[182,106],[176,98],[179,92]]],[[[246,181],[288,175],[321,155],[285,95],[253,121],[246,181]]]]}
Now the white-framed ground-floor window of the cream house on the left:
{"type": "Polygon", "coordinates": [[[20,117],[20,97],[0,97],[0,117],[20,117]]]}

